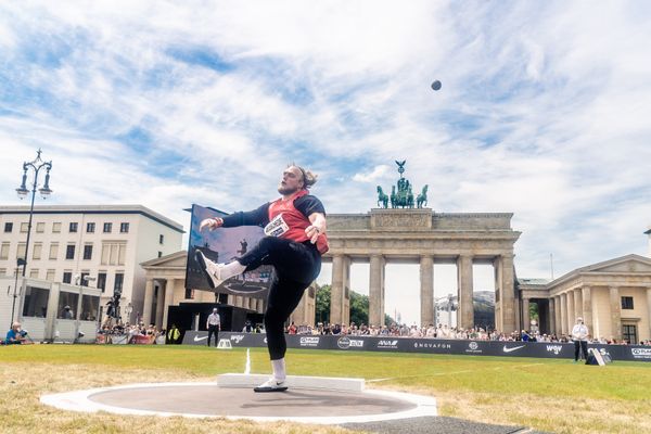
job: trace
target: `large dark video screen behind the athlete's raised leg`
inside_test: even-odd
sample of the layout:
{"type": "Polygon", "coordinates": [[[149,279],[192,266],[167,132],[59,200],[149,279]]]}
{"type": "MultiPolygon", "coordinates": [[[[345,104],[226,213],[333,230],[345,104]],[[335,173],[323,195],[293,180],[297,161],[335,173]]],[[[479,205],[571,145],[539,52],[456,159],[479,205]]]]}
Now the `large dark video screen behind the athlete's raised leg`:
{"type": "Polygon", "coordinates": [[[195,290],[213,291],[222,294],[246,295],[266,298],[273,279],[273,268],[261,266],[224,281],[213,289],[202,266],[200,252],[215,263],[230,263],[242,256],[264,237],[263,228],[242,226],[239,228],[218,228],[200,232],[201,221],[206,218],[224,217],[225,213],[216,209],[192,205],[192,221],[188,246],[188,267],[186,269],[186,286],[195,290]]]}

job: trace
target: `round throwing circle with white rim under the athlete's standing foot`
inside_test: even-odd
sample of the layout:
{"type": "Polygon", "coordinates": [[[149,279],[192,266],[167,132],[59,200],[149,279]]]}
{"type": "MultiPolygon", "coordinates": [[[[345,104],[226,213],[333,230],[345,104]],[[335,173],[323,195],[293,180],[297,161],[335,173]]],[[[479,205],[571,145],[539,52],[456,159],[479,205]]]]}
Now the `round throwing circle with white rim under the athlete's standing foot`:
{"type": "Polygon", "coordinates": [[[73,411],[306,423],[436,416],[434,398],[398,392],[290,388],[282,393],[260,394],[251,388],[218,387],[216,383],[131,384],[44,395],[40,400],[73,411]]]}

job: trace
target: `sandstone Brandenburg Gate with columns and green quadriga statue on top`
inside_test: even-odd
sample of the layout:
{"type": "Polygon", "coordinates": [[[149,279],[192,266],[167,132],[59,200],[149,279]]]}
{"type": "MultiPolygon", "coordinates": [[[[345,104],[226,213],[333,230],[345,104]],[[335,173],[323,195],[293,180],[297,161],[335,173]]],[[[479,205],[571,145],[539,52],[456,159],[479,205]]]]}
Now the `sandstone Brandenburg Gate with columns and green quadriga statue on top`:
{"type": "MultiPolygon", "coordinates": [[[[396,162],[398,163],[398,162],[396,162]]],[[[403,165],[398,163],[400,169],[403,165]]],[[[400,170],[399,170],[400,171],[400,170]]],[[[403,169],[404,171],[404,169],[403,169]]],[[[328,238],[332,260],[331,323],[349,323],[349,278],[353,261],[369,261],[369,324],[384,323],[384,267],[386,263],[420,264],[421,324],[434,323],[434,264],[457,264],[458,327],[474,326],[473,264],[495,268],[495,327],[502,332],[516,329],[513,244],[520,233],[511,229],[511,213],[434,213],[425,207],[400,206],[400,188],[411,195],[409,181],[398,180],[392,192],[367,214],[329,214],[328,238]],[[396,206],[397,205],[397,206],[396,206]]],[[[426,204],[426,186],[423,189],[426,204]]],[[[419,205],[421,195],[419,195],[419,205]]],[[[411,196],[411,204],[413,200],[411,196]]]]}

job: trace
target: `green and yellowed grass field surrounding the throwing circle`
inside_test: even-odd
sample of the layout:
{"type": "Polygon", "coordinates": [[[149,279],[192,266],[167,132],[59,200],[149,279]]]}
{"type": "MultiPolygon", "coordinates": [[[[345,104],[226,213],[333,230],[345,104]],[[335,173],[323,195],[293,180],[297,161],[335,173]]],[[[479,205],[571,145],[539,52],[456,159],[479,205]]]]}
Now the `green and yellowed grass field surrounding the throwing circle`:
{"type": "MultiPolygon", "coordinates": [[[[209,381],[243,372],[244,349],[203,346],[0,347],[0,433],[343,433],[335,426],[65,412],[47,393],[136,382],[209,381]]],[[[270,372],[266,349],[252,372],[270,372]]],[[[288,372],[352,376],[367,387],[435,396],[442,416],[554,433],[651,432],[651,363],[290,349],[288,372]]]]}

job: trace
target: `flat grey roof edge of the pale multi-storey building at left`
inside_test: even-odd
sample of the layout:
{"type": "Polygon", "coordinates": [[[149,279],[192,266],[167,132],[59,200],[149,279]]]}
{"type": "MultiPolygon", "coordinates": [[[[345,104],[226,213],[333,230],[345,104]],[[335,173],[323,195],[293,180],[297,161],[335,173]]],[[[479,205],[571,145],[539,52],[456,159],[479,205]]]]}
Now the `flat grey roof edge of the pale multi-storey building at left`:
{"type": "MultiPolygon", "coordinates": [[[[0,214],[28,214],[29,206],[0,206],[0,214]]],[[[183,233],[183,225],[142,205],[38,205],[34,214],[140,214],[177,232],[183,233]]]]}

